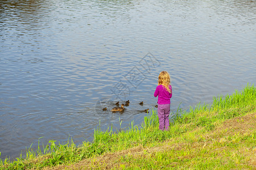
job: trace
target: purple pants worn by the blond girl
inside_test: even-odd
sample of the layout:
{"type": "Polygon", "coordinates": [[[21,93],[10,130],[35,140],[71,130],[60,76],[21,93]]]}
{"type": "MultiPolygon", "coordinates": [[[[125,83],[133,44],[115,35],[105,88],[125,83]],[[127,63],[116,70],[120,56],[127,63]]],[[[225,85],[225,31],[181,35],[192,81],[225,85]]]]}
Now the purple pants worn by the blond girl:
{"type": "Polygon", "coordinates": [[[159,104],[158,105],[158,118],[159,118],[159,129],[168,130],[169,129],[169,114],[170,114],[170,104],[159,104]]]}

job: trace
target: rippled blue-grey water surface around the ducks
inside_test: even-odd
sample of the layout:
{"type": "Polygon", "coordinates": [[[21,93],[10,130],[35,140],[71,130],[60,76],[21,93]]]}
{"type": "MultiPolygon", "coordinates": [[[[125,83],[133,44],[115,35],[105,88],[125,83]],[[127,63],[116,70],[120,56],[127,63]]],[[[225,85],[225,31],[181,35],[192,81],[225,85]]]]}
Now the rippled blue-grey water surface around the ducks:
{"type": "Polygon", "coordinates": [[[174,112],[255,83],[255,16],[256,1],[0,0],[1,158],[140,124],[162,70],[174,112]]]}

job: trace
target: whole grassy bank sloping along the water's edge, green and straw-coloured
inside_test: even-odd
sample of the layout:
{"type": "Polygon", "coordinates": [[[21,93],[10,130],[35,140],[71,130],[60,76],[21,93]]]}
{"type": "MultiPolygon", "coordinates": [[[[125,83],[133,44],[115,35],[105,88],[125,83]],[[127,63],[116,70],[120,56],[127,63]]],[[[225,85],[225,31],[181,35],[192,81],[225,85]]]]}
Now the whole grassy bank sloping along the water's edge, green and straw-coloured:
{"type": "Polygon", "coordinates": [[[247,85],[232,95],[213,98],[177,110],[170,131],[158,130],[156,111],[144,117],[142,128],[114,133],[94,131],[94,141],[76,146],[49,141],[16,161],[0,162],[2,169],[255,169],[256,88],[247,85]],[[180,116],[183,115],[183,116],[180,116]]]}

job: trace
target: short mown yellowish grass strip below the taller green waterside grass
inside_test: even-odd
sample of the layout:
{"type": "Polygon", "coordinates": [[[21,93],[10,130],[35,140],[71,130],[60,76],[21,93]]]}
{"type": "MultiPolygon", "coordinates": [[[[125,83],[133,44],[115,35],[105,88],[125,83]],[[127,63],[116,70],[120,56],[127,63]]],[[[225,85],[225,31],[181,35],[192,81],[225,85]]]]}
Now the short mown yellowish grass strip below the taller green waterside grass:
{"type": "Polygon", "coordinates": [[[180,137],[45,169],[255,169],[256,113],[226,120],[214,130],[188,130],[180,137]]]}

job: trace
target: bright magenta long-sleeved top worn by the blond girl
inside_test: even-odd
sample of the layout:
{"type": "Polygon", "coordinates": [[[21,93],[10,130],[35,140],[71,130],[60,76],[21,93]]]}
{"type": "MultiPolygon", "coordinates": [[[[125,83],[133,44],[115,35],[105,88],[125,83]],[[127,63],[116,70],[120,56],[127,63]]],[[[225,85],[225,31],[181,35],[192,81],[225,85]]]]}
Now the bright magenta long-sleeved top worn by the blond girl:
{"type": "MultiPolygon", "coordinates": [[[[172,86],[169,85],[170,90],[172,92],[172,86]]],[[[156,86],[154,96],[158,96],[158,104],[170,104],[171,103],[171,97],[172,93],[170,94],[166,88],[161,84],[159,86],[156,86]]]]}

